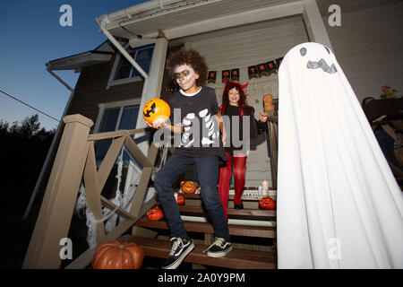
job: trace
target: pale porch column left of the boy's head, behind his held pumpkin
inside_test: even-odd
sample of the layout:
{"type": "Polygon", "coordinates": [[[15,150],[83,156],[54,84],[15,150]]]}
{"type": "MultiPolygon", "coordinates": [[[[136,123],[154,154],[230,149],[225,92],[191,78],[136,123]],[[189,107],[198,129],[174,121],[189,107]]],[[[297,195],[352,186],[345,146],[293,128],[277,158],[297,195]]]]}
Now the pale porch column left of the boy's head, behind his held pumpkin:
{"type": "MultiPolygon", "coordinates": [[[[142,88],[136,128],[147,127],[144,117],[142,117],[142,107],[144,107],[147,101],[154,98],[159,98],[162,86],[162,77],[164,76],[165,60],[167,58],[167,43],[168,40],[165,38],[165,35],[160,35],[155,42],[154,53],[152,55],[150,65],[150,77],[145,79],[142,88]]],[[[145,134],[137,134],[135,135],[135,138],[143,135],[145,134]]],[[[147,142],[141,142],[138,144],[138,146],[141,149],[141,152],[148,154],[149,144],[147,142]]]]}

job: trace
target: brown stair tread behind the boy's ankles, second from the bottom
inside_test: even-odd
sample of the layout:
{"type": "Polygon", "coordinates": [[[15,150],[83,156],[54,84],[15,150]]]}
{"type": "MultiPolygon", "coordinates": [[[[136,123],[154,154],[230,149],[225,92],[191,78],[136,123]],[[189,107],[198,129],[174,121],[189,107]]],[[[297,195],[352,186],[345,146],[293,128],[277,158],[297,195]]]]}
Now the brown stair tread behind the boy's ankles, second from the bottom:
{"type": "MultiPolygon", "coordinates": [[[[141,218],[135,223],[136,226],[145,228],[155,228],[167,230],[168,225],[164,220],[151,222],[146,217],[141,218]]],[[[190,232],[214,233],[210,222],[184,222],[184,229],[190,232]]],[[[276,238],[276,227],[249,226],[228,224],[229,234],[237,236],[257,237],[257,238],[276,238]]]]}

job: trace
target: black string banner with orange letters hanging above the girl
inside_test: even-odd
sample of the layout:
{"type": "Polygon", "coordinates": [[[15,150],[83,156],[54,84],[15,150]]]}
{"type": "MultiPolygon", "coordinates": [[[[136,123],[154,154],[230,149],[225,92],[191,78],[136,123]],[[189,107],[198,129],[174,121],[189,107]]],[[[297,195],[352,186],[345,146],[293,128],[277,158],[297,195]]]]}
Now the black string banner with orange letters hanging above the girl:
{"type": "MultiPolygon", "coordinates": [[[[270,75],[271,73],[277,73],[279,71],[279,65],[281,65],[282,60],[283,57],[279,57],[275,60],[270,60],[269,62],[266,63],[248,66],[249,80],[253,78],[262,77],[263,75],[270,75]]],[[[216,83],[216,79],[217,79],[217,71],[209,71],[207,83],[216,83]]],[[[240,79],[239,68],[222,70],[221,83],[225,83],[224,79],[227,79],[227,81],[239,81],[240,79]]]]}

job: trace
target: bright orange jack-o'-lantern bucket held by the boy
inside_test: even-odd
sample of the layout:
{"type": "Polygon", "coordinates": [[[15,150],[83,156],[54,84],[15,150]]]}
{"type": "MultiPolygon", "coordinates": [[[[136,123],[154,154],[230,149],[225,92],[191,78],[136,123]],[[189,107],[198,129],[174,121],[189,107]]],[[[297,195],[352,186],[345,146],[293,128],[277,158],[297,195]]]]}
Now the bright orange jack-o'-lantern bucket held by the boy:
{"type": "Polygon", "coordinates": [[[171,109],[165,100],[158,98],[147,101],[142,108],[142,116],[151,125],[165,123],[171,115],[171,109]]]}

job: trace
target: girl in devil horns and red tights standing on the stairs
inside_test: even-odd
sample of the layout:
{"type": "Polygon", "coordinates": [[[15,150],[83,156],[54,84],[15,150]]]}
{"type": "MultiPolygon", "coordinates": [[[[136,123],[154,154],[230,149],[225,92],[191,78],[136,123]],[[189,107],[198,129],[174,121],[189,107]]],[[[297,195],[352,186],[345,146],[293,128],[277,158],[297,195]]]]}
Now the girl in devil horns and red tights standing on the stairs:
{"type": "Polygon", "coordinates": [[[261,135],[267,128],[267,113],[262,112],[259,120],[254,118],[254,109],[246,103],[246,95],[244,88],[248,83],[241,85],[236,82],[227,82],[226,88],[222,94],[222,104],[219,112],[222,116],[229,119],[226,122],[227,141],[225,143],[225,151],[227,154],[227,163],[219,169],[219,199],[224,207],[227,218],[227,203],[229,195],[229,179],[232,175],[232,165],[234,164],[235,178],[235,196],[234,205],[236,209],[243,209],[241,196],[244,191],[244,170],[246,165],[246,157],[249,147],[249,140],[261,135]],[[239,125],[235,123],[238,122],[239,125]],[[244,126],[247,125],[248,126],[244,126]],[[249,133],[247,128],[249,127],[249,133]],[[237,141],[238,139],[239,141],[237,141]]]}

